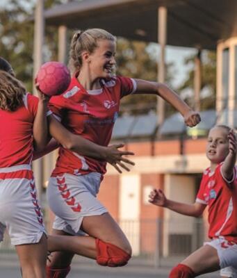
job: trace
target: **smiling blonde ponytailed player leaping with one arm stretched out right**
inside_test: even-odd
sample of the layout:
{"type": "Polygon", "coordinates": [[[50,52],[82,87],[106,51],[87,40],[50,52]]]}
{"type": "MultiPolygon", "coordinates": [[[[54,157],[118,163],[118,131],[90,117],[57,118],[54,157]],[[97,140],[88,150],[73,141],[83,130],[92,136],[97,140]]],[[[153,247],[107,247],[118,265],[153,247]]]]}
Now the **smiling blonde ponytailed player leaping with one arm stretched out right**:
{"type": "MultiPolygon", "coordinates": [[[[179,96],[156,82],[113,76],[115,37],[101,29],[76,32],[72,38],[70,65],[72,82],[63,95],[52,97],[50,109],[63,125],[75,134],[106,146],[111,140],[120,99],[129,94],[155,94],[172,104],[188,126],[200,118],[179,96]]],[[[124,233],[96,195],[106,163],[60,148],[56,168],[49,179],[49,206],[56,214],[53,234],[78,235],[81,242],[90,238],[81,254],[96,259],[100,265],[125,265],[131,246],[124,233]]],[[[72,254],[55,252],[47,277],[66,277],[72,254]]]]}

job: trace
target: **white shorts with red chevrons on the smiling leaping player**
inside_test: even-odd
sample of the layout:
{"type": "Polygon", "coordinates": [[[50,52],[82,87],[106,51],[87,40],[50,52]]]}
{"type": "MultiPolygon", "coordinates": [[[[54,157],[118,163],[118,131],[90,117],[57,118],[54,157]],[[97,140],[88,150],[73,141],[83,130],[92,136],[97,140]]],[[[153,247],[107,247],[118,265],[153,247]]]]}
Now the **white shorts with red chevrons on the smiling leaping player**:
{"type": "Polygon", "coordinates": [[[80,227],[84,216],[106,213],[106,208],[96,198],[100,182],[101,174],[96,172],[51,177],[47,199],[56,215],[53,228],[72,235],[83,234],[80,227]]]}

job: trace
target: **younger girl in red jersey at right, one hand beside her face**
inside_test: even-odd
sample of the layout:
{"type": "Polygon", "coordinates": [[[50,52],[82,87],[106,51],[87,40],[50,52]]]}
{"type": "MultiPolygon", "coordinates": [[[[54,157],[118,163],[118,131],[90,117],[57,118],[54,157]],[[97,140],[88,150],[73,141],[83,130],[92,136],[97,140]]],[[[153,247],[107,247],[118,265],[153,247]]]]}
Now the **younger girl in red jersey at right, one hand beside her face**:
{"type": "Polygon", "coordinates": [[[209,207],[209,238],[193,254],[170,272],[170,278],[196,277],[224,268],[222,275],[237,277],[237,174],[236,136],[228,126],[214,126],[209,131],[206,156],[211,165],[204,171],[195,204],[166,199],[162,190],[153,190],[149,202],[183,215],[199,217],[209,207]],[[228,270],[230,270],[228,268],[228,270]]]}

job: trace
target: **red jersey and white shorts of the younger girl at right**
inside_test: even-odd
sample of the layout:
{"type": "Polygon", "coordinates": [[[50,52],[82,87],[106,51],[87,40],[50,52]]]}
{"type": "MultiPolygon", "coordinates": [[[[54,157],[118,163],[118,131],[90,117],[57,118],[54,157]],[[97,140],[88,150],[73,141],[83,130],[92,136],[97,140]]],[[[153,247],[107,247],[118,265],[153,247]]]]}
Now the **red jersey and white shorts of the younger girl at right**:
{"type": "Polygon", "coordinates": [[[222,176],[222,163],[214,172],[204,171],[196,202],[209,207],[209,238],[205,243],[214,247],[220,259],[220,268],[231,267],[231,277],[237,277],[237,171],[227,181],[222,176]]]}

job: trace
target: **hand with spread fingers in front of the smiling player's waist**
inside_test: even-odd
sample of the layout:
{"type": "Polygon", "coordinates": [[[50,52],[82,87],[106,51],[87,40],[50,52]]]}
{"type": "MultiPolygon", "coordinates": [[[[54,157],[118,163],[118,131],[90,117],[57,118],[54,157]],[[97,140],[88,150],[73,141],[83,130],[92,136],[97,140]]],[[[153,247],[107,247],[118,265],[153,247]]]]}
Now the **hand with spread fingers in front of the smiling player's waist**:
{"type": "Polygon", "coordinates": [[[124,168],[126,171],[130,171],[129,167],[127,167],[124,163],[135,165],[133,161],[130,161],[129,159],[125,158],[124,156],[133,156],[133,152],[126,152],[126,151],[120,151],[119,149],[124,147],[124,144],[115,144],[106,147],[106,153],[105,153],[105,160],[110,163],[117,172],[120,174],[122,173],[122,170],[120,167],[124,168]]]}

